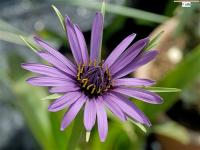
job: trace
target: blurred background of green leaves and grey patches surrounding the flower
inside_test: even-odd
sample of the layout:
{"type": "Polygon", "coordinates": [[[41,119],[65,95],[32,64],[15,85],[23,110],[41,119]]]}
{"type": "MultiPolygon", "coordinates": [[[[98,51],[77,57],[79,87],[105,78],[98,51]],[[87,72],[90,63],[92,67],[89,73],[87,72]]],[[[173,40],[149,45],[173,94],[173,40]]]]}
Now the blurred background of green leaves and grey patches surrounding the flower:
{"type": "MultiPolygon", "coordinates": [[[[51,113],[46,88],[25,82],[20,64],[41,62],[18,37],[32,42],[39,35],[71,58],[65,32],[53,11],[54,4],[80,25],[89,45],[90,29],[100,1],[95,0],[1,0],[0,1],[0,150],[199,150],[200,149],[200,4],[182,8],[172,0],[106,0],[103,57],[127,35],[154,37],[164,31],[153,49],[156,60],[133,73],[158,81],[158,87],[175,87],[179,93],[159,93],[162,105],[134,101],[152,121],[146,133],[109,113],[109,133],[101,143],[97,128],[88,143],[82,116],[60,132],[64,111],[51,113]],[[80,134],[82,133],[82,134],[80,134]]],[[[159,91],[158,91],[159,92],[159,91]]]]}

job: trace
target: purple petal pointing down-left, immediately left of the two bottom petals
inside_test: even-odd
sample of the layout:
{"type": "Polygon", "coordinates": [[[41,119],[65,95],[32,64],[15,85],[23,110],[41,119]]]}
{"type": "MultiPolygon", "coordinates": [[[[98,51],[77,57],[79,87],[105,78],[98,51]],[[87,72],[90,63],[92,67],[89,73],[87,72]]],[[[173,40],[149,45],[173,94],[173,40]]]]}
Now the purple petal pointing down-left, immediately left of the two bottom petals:
{"type": "Polygon", "coordinates": [[[82,95],[74,104],[72,104],[68,112],[64,115],[63,121],[61,123],[61,131],[63,131],[71,122],[74,120],[81,107],[86,101],[86,97],[82,95]]]}

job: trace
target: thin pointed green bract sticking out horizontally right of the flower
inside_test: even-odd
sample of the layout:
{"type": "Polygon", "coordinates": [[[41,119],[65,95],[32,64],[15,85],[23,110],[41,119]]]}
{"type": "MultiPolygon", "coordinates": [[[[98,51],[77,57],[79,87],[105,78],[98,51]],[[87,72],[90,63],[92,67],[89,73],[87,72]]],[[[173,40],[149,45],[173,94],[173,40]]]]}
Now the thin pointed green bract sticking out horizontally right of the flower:
{"type": "Polygon", "coordinates": [[[166,87],[145,87],[145,90],[151,91],[151,92],[157,92],[157,93],[162,93],[162,92],[180,92],[180,89],[177,88],[166,88],[166,87]]]}

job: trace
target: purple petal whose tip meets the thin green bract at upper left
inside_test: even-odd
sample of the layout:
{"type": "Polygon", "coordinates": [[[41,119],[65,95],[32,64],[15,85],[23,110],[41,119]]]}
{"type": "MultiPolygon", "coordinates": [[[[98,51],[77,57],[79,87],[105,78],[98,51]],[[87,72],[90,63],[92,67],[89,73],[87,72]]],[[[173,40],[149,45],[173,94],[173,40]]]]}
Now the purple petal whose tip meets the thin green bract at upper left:
{"type": "Polygon", "coordinates": [[[54,65],[56,68],[60,69],[61,71],[64,71],[67,74],[70,74],[71,76],[76,76],[76,73],[72,72],[72,70],[70,70],[64,63],[62,63],[59,59],[57,59],[47,51],[39,51],[37,52],[37,54],[50,64],[54,65]]]}

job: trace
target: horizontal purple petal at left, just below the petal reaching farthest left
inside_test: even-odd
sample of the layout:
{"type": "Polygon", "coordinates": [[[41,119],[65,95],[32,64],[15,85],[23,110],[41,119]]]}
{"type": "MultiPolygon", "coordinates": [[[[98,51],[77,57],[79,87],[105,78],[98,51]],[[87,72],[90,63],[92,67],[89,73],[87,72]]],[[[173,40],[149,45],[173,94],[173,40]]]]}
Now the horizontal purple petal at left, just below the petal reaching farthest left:
{"type": "Polygon", "coordinates": [[[39,76],[29,78],[26,81],[35,86],[66,86],[72,79],[39,76]]]}

